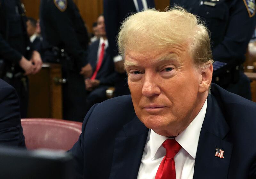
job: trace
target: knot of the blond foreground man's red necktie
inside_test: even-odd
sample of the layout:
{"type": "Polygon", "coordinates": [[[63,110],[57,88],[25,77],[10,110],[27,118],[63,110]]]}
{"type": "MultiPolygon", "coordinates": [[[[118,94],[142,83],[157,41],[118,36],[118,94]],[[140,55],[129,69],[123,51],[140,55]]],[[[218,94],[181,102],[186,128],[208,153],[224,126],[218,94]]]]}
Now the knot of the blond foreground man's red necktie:
{"type": "Polygon", "coordinates": [[[166,157],[173,159],[174,156],[180,151],[181,145],[175,139],[166,139],[163,143],[166,149],[166,157]]]}

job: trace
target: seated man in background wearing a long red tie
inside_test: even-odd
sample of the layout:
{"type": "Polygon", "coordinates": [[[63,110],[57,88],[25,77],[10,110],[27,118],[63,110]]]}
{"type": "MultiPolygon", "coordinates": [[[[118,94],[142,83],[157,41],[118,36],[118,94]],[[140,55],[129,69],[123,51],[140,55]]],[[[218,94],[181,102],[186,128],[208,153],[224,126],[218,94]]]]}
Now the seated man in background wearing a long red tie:
{"type": "Polygon", "coordinates": [[[92,105],[107,99],[106,90],[110,86],[114,86],[119,77],[109,55],[103,15],[100,15],[97,20],[97,30],[100,39],[93,42],[88,49],[88,60],[92,65],[93,73],[91,78],[85,79],[85,87],[89,92],[86,98],[87,111],[92,105]]]}

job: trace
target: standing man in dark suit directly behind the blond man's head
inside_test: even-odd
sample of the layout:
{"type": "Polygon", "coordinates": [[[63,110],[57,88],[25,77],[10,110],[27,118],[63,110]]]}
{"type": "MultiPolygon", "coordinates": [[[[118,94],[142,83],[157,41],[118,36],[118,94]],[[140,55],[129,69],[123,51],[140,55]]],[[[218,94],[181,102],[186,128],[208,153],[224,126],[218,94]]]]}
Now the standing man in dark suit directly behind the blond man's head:
{"type": "Polygon", "coordinates": [[[106,32],[109,42],[109,52],[112,57],[115,69],[119,74],[120,80],[116,83],[115,96],[130,94],[127,85],[127,76],[124,71],[123,58],[118,54],[116,43],[123,20],[132,13],[140,12],[142,9],[154,8],[154,0],[104,0],[103,9],[106,23],[106,32]]]}

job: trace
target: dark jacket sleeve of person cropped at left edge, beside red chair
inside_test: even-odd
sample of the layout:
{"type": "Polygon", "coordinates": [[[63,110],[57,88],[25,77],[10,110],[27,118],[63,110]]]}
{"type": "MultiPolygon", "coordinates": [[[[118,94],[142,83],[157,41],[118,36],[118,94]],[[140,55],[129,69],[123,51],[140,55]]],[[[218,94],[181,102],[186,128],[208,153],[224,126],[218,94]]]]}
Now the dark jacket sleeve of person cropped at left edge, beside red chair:
{"type": "Polygon", "coordinates": [[[24,146],[20,105],[15,89],[0,79],[0,145],[24,146]]]}

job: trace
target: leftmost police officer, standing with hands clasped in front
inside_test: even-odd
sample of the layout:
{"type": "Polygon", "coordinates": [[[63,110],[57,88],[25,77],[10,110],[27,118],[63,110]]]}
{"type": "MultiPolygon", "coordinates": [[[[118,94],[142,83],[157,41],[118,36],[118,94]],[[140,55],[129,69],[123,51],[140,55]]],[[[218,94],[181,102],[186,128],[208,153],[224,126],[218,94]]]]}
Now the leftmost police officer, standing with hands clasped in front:
{"type": "Polygon", "coordinates": [[[21,118],[28,110],[28,78],[42,66],[41,56],[30,47],[24,6],[20,0],[0,0],[0,78],[12,85],[20,99],[21,118]]]}

